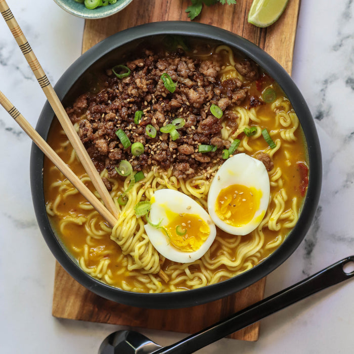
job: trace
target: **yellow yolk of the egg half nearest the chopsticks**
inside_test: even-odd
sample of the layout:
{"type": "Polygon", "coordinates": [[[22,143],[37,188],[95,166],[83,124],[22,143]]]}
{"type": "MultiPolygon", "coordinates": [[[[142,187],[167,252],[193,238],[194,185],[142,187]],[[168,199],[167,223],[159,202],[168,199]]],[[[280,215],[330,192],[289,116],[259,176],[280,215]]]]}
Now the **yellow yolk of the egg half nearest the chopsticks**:
{"type": "Polygon", "coordinates": [[[210,234],[209,225],[197,214],[166,212],[168,224],[163,227],[172,246],[183,252],[200,248],[210,234]]]}

